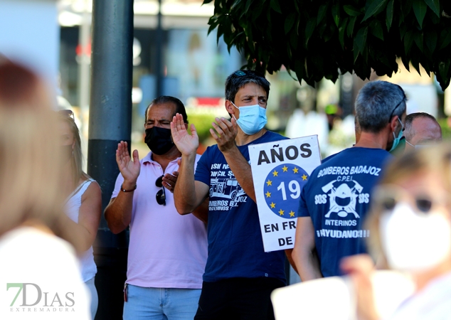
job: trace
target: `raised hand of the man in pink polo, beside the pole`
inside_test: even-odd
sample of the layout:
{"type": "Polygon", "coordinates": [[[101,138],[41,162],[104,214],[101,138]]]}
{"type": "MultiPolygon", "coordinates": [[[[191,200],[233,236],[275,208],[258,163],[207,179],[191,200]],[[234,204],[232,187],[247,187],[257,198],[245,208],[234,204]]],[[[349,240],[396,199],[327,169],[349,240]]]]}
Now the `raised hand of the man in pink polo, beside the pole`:
{"type": "Polygon", "coordinates": [[[139,171],[141,170],[141,164],[139,163],[138,151],[133,151],[133,161],[130,158],[130,154],[127,148],[127,142],[121,141],[117,144],[116,150],[116,162],[119,167],[119,171],[124,178],[123,188],[132,188],[137,182],[139,171]]]}

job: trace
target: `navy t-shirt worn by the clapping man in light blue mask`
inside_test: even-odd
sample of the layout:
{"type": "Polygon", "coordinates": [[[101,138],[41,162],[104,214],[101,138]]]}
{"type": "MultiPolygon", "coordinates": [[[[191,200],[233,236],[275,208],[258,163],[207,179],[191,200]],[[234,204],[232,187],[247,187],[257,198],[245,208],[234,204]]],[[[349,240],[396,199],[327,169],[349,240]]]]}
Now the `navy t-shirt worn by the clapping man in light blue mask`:
{"type": "MultiPolygon", "coordinates": [[[[268,131],[250,144],[282,139],[287,138],[268,131]]],[[[250,144],[238,146],[248,161],[250,144]]],[[[210,186],[208,259],[203,281],[272,277],[285,282],[285,252],[263,249],[257,205],[241,188],[217,145],[203,153],[195,178],[210,186]]]]}

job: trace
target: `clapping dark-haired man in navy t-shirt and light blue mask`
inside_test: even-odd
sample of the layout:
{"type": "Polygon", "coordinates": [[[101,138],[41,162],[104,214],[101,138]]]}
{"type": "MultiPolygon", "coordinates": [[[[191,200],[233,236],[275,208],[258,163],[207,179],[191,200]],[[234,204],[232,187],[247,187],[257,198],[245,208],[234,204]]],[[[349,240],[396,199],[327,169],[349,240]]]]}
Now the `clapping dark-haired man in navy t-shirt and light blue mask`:
{"type": "MultiPolygon", "coordinates": [[[[274,319],[270,293],[285,285],[283,251],[265,252],[249,164],[250,144],[285,139],[267,131],[270,82],[255,71],[238,70],[226,80],[226,110],[216,118],[208,147],[198,161],[196,128],[191,135],[179,114],[171,123],[181,151],[174,201],[188,213],[209,199],[208,259],[194,319],[274,319]]],[[[291,257],[290,257],[291,258],[291,257]]]]}

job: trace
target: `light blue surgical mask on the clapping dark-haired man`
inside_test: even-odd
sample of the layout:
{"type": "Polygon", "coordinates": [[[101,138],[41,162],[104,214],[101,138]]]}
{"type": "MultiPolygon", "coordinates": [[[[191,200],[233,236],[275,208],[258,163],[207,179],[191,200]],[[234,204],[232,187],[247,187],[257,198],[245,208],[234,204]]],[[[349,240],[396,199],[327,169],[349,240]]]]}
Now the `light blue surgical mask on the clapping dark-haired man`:
{"type": "MultiPolygon", "coordinates": [[[[235,120],[245,134],[248,134],[249,136],[256,134],[265,127],[267,117],[266,109],[264,107],[260,107],[260,105],[247,105],[238,108],[233,102],[232,105],[240,110],[240,119],[235,118],[235,120]]],[[[233,117],[235,117],[235,115],[233,117]]]]}

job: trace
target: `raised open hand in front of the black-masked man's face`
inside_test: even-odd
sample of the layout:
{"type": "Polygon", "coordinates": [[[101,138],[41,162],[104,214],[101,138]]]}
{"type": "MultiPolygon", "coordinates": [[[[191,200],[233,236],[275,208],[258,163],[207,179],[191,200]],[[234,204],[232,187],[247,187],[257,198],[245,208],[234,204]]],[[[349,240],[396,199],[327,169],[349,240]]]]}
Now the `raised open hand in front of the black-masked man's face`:
{"type": "Polygon", "coordinates": [[[171,122],[171,134],[174,144],[177,149],[184,156],[192,156],[196,154],[199,146],[199,138],[197,136],[196,127],[191,124],[191,135],[188,133],[185,127],[184,118],[181,114],[177,113],[171,122]]]}

